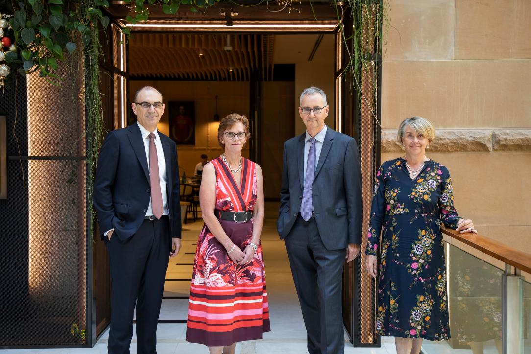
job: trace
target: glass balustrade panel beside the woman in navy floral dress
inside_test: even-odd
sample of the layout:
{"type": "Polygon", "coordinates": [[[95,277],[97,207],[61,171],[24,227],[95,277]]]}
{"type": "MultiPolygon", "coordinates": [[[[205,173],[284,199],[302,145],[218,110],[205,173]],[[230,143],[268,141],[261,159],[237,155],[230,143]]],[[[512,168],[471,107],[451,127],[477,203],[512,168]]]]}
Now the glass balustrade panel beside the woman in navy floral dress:
{"type": "Polygon", "coordinates": [[[425,340],[423,352],[502,354],[504,271],[448,243],[445,249],[451,339],[425,340]]]}

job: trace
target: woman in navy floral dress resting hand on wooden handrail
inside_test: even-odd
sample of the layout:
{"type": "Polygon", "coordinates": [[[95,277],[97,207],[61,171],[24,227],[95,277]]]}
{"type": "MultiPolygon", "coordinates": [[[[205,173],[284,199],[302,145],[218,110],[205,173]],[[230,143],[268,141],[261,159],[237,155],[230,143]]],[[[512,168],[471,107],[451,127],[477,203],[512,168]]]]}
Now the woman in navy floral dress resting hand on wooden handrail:
{"type": "Polygon", "coordinates": [[[477,232],[453,208],[448,169],[425,156],[434,137],[427,119],[405,119],[405,157],[384,162],[374,186],[366,266],[378,280],[376,330],[395,337],[398,354],[418,353],[423,338],[450,338],[441,223],[477,232]]]}

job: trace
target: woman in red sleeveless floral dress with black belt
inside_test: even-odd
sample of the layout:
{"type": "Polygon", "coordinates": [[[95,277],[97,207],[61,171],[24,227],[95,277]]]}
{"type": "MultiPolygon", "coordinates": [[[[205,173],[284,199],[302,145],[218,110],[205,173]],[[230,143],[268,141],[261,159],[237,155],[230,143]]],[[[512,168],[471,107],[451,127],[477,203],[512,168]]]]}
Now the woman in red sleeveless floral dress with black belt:
{"type": "Polygon", "coordinates": [[[219,124],[225,153],[203,168],[199,193],[204,226],[195,252],[186,340],[210,353],[234,353],[236,342],[270,331],[260,234],[262,170],[241,156],[249,120],[230,114],[219,124]]]}

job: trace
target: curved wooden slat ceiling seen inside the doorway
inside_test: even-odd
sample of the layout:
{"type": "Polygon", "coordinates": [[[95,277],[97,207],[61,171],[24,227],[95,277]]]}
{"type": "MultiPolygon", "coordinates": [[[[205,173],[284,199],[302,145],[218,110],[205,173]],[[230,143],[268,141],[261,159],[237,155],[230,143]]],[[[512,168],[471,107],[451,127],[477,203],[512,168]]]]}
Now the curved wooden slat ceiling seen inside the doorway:
{"type": "Polygon", "coordinates": [[[130,74],[137,79],[246,81],[261,62],[268,76],[264,80],[271,80],[275,35],[229,36],[232,50],[225,50],[227,34],[134,33],[129,40],[130,74]]]}

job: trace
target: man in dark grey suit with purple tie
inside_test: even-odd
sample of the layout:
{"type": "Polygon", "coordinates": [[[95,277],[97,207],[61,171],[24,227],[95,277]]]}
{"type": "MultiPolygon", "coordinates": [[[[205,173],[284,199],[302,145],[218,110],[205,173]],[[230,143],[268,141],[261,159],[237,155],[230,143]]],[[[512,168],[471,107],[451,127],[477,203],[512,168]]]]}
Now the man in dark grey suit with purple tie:
{"type": "Polygon", "coordinates": [[[338,354],[345,351],[343,265],[361,244],[358,149],[352,137],[324,124],[330,107],[323,90],[305,89],[300,104],[306,132],[284,143],[277,229],[285,240],[308,351],[338,354]]]}

